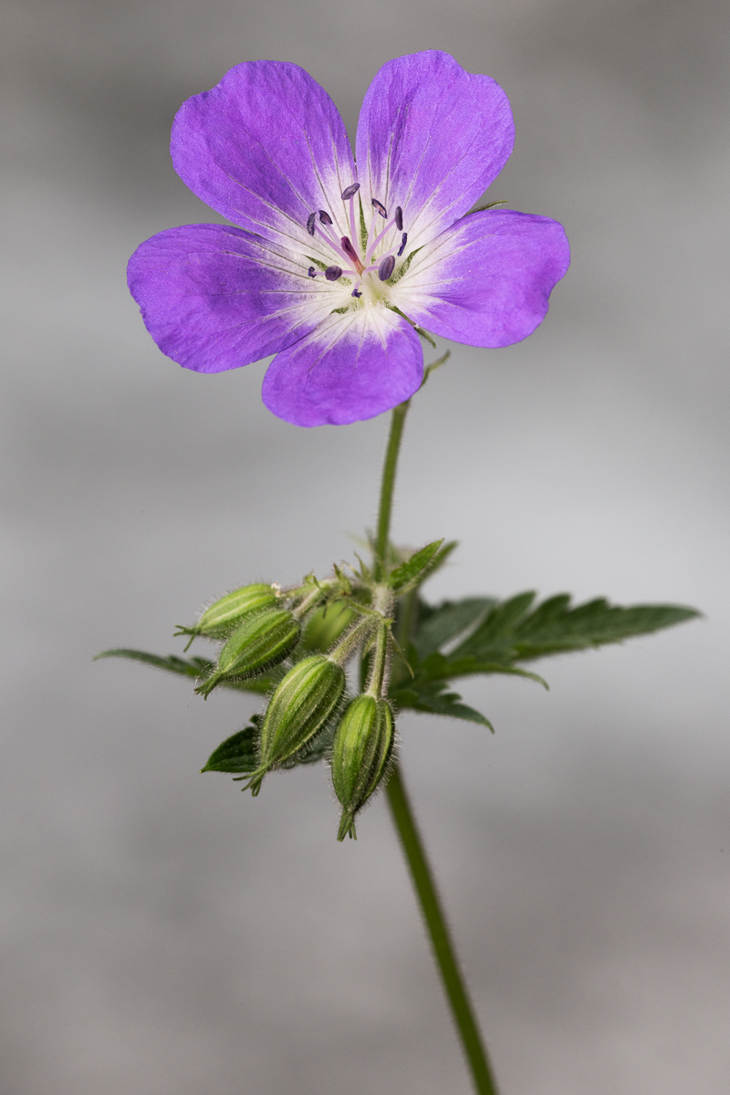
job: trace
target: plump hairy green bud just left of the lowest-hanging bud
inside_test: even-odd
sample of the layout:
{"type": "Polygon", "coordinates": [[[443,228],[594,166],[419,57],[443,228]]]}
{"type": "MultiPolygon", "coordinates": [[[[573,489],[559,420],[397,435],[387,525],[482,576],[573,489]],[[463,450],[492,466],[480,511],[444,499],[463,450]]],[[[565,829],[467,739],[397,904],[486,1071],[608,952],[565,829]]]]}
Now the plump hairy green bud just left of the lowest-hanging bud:
{"type": "Polygon", "coordinates": [[[314,654],[289,670],[271,696],[258,742],[259,768],[247,787],[258,794],[266,773],[303,749],[322,729],[345,691],[345,670],[314,654]]]}

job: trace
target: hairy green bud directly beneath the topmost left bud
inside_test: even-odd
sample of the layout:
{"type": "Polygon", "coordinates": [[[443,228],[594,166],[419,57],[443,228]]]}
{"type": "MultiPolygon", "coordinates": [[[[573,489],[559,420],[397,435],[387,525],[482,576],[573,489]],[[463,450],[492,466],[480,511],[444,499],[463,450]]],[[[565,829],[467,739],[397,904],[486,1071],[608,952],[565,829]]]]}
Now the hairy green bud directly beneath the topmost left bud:
{"type": "Polygon", "coordinates": [[[300,626],[287,609],[264,609],[244,619],[220,652],[218,667],[196,688],[208,696],[221,680],[235,680],[263,672],[291,654],[300,626]]]}

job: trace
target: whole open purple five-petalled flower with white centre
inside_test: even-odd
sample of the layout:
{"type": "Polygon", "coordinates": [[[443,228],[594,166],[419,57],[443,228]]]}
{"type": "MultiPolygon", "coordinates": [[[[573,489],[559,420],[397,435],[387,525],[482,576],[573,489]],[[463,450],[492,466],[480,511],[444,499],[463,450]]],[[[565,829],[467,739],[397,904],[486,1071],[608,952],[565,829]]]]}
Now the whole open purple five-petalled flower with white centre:
{"type": "Polygon", "coordinates": [[[263,399],[280,418],[371,418],[421,382],[415,324],[496,347],[544,319],[568,268],[561,226],[502,209],[466,216],[512,142],[499,84],[438,50],[381,68],[360,112],[357,168],[308,72],[237,65],[183,104],[171,152],[193,193],[240,227],[153,235],[129,261],[130,292],[186,369],[275,354],[263,399]]]}

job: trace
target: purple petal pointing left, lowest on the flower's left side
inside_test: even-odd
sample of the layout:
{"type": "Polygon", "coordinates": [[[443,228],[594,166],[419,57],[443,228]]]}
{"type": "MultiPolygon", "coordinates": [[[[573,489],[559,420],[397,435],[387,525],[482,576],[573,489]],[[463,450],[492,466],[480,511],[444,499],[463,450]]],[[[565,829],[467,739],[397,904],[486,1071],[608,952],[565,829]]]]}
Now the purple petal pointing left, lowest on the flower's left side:
{"type": "Polygon", "coordinates": [[[349,299],[282,249],[224,224],[153,235],[129,260],[127,281],[160,349],[195,372],[276,354],[349,299]]]}

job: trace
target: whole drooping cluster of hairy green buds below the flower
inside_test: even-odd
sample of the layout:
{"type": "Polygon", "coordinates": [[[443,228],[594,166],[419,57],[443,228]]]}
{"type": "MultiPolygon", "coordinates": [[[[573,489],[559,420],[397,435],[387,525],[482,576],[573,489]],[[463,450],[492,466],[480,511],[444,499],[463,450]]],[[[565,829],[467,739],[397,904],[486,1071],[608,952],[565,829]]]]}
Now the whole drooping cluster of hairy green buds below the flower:
{"type": "MultiPolygon", "coordinates": [[[[326,750],[341,807],[338,840],[355,837],[355,819],[383,784],[392,762],[395,718],[387,700],[394,638],[394,598],[429,565],[440,541],[416,553],[383,580],[366,567],[347,577],[309,575],[281,589],[251,585],[216,601],[177,634],[222,643],[212,671],[196,692],[269,675],[271,695],[257,721],[256,760],[243,789],[257,795],[265,776],[316,746],[326,750]],[[347,664],[366,660],[361,694],[347,698],[347,664]],[[274,673],[271,673],[274,670],[274,673]]],[[[188,643],[189,646],[189,643],[188,643]]]]}

